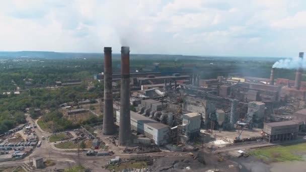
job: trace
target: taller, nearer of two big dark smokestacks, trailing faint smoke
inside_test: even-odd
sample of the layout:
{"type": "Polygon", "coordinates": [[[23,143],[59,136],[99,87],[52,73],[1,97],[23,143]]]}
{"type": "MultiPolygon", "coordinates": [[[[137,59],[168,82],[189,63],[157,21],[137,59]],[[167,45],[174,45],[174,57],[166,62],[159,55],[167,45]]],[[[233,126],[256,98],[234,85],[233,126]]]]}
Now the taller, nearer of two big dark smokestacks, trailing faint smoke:
{"type": "Polygon", "coordinates": [[[128,146],[131,138],[130,116],[130,47],[121,47],[119,145],[128,146]]]}

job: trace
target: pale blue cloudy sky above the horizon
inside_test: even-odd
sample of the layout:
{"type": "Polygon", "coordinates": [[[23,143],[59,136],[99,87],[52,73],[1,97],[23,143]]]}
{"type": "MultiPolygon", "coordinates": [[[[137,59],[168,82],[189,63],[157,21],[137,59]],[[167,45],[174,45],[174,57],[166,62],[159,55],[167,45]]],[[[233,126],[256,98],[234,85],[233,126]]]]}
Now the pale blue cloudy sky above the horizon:
{"type": "Polygon", "coordinates": [[[304,0],[0,1],[0,51],[297,56],[304,0]]]}

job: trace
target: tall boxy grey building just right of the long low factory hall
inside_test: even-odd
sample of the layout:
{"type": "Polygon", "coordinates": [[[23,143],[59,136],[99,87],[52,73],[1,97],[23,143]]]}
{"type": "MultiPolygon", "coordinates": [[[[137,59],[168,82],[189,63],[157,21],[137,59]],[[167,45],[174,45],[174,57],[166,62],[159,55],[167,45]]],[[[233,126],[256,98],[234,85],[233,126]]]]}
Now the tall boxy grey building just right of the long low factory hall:
{"type": "Polygon", "coordinates": [[[181,142],[192,141],[199,136],[201,129],[201,115],[199,113],[189,113],[183,115],[183,124],[178,126],[181,133],[181,142]]]}

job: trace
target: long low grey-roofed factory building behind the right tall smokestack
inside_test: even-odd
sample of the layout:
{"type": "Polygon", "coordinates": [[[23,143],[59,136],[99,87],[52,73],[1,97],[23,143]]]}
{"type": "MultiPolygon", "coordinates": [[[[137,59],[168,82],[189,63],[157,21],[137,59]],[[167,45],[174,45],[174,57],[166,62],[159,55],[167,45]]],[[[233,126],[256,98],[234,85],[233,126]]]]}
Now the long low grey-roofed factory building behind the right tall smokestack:
{"type": "MultiPolygon", "coordinates": [[[[169,142],[170,128],[168,125],[159,123],[155,120],[142,116],[136,112],[130,111],[131,129],[144,134],[146,137],[154,140],[157,145],[164,145],[169,142]]],[[[120,112],[116,111],[117,124],[120,123],[120,112]]],[[[120,126],[119,126],[120,127],[120,126]]]]}

